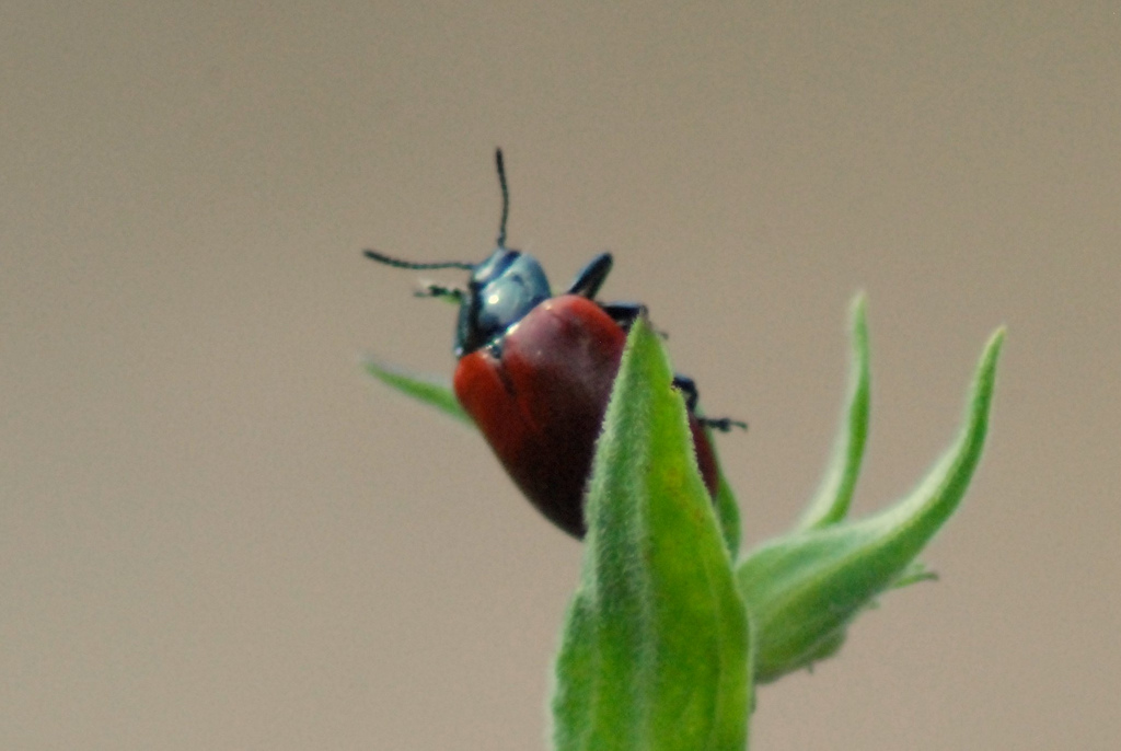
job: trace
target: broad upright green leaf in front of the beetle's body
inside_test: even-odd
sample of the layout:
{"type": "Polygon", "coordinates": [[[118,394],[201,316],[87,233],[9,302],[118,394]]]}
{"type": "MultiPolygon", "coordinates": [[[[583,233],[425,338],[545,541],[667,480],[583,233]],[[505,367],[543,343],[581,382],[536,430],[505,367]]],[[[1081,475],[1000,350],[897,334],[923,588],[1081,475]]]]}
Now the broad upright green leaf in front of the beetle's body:
{"type": "Polygon", "coordinates": [[[559,751],[739,751],[747,615],[673,371],[632,327],[596,446],[554,686],[559,751]]]}

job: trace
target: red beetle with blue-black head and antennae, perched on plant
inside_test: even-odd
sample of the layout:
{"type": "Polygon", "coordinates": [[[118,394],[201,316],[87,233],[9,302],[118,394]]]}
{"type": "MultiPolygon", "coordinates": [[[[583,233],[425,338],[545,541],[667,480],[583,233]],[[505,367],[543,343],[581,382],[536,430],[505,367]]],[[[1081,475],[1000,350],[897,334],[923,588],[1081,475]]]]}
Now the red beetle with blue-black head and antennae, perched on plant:
{"type": "MultiPolygon", "coordinates": [[[[643,316],[633,303],[601,303],[596,293],[611,271],[600,253],[554,296],[541,265],[507,248],[510,192],[502,150],[495,150],[502,219],[494,251],[480,263],[414,262],[377,250],[379,263],[415,270],[470,271],[465,287],[427,284],[423,297],[460,306],[455,327],[453,388],[515,484],[553,523],[582,538],[584,492],[627,332],[643,316]]],[[[688,411],[697,465],[710,495],[719,483],[716,456],[705,428],[747,427],[697,414],[692,379],[675,376],[688,411]]]]}

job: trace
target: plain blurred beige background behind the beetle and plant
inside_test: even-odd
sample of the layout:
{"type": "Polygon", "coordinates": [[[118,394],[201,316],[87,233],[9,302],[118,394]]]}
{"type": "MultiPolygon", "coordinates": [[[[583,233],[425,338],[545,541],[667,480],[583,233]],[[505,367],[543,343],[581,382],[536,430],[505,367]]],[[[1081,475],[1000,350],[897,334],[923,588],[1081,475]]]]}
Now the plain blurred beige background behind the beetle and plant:
{"type": "MultiPolygon", "coordinates": [[[[363,247],[617,254],[745,539],[814,490],[867,290],[860,512],[990,449],[757,749],[1121,748],[1117,2],[0,6],[0,748],[544,749],[581,548],[472,432],[454,312],[363,247]]],[[[454,280],[457,275],[451,275],[454,280]]]]}

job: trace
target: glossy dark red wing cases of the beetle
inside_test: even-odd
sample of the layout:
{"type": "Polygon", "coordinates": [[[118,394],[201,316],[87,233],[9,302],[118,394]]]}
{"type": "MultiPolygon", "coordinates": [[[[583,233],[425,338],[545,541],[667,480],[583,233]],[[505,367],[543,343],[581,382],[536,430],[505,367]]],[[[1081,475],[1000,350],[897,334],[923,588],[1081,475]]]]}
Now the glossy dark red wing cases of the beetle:
{"type": "MultiPolygon", "coordinates": [[[[460,404],[510,478],[575,537],[585,531],[585,485],[626,342],[600,305],[562,295],[534,307],[500,347],[470,352],[455,369],[460,404]]],[[[715,495],[716,457],[692,411],[689,429],[702,479],[715,495]]]]}

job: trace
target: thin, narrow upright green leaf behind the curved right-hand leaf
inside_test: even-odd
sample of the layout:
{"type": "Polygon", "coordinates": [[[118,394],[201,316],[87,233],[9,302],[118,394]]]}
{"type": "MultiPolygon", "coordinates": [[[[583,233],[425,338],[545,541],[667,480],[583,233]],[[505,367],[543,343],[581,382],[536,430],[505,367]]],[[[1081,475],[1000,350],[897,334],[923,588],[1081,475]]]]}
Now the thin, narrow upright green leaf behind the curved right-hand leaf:
{"type": "Polygon", "coordinates": [[[871,369],[868,353],[867,304],[863,295],[852,303],[852,364],[849,373],[849,399],[844,418],[833,444],[828,470],[798,529],[828,527],[845,518],[860,475],[860,463],[868,441],[868,414],[871,408],[871,369]]]}

